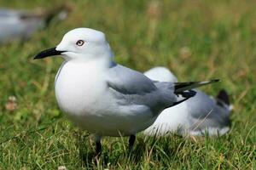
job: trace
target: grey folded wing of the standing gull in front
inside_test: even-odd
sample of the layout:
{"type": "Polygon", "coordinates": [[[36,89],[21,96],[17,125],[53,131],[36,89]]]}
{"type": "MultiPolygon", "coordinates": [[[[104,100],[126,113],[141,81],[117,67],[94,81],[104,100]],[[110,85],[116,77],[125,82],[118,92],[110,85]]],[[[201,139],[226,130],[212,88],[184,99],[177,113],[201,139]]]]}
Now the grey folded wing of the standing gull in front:
{"type": "Polygon", "coordinates": [[[172,88],[168,88],[167,82],[153,82],[143,73],[122,65],[113,65],[109,69],[107,82],[119,105],[147,105],[158,114],[176,101],[170,82],[172,88]]]}

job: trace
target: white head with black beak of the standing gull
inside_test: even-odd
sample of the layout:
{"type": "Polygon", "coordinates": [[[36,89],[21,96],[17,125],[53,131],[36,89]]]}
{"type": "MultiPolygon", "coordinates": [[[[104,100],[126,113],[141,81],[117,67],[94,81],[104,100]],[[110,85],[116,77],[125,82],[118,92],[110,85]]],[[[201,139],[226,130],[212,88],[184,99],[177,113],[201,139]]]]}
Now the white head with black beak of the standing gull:
{"type": "Polygon", "coordinates": [[[34,59],[61,55],[66,60],[111,59],[113,54],[105,34],[90,28],[68,31],[55,48],[45,49],[34,59]]]}

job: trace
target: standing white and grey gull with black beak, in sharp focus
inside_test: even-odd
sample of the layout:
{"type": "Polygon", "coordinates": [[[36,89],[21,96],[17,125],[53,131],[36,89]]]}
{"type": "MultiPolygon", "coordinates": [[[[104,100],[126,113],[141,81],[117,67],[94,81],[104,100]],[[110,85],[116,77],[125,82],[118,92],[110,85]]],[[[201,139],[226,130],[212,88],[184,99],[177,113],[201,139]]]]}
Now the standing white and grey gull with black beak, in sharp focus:
{"type": "Polygon", "coordinates": [[[76,125],[95,134],[96,153],[102,136],[130,136],[149,127],[167,107],[195,95],[191,88],[207,82],[154,82],[143,73],[113,61],[113,52],[102,31],[76,28],[55,48],[35,59],[61,55],[64,62],[55,77],[55,97],[61,111],[76,125]]]}

